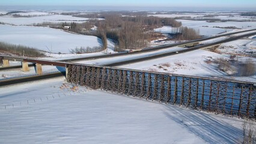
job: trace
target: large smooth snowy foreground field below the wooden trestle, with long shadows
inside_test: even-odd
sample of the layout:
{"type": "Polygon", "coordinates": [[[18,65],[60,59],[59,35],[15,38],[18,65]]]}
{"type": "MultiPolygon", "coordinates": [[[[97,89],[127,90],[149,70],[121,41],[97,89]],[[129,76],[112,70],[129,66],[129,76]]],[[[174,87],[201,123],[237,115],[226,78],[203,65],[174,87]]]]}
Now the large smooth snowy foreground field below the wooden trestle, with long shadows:
{"type": "Polygon", "coordinates": [[[64,78],[1,88],[0,115],[0,143],[239,143],[244,121],[64,78]]]}

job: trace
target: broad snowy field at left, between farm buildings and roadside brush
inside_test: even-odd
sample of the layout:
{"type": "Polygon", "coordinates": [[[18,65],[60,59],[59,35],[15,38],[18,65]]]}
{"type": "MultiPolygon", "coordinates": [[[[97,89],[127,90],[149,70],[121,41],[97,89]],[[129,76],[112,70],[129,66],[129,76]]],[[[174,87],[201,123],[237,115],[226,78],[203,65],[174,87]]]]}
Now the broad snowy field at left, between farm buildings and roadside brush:
{"type": "Polygon", "coordinates": [[[51,53],[70,53],[76,47],[101,47],[102,40],[60,29],[35,26],[0,25],[0,40],[5,43],[34,47],[51,53]]]}

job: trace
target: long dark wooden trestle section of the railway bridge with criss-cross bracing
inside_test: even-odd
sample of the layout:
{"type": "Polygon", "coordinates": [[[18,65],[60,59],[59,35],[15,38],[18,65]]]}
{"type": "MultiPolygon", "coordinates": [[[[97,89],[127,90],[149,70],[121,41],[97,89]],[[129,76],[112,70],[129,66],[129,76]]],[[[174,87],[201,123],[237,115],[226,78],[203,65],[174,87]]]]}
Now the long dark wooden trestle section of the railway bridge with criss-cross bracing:
{"type": "Polygon", "coordinates": [[[256,118],[253,83],[67,64],[67,82],[209,112],[256,118]]]}

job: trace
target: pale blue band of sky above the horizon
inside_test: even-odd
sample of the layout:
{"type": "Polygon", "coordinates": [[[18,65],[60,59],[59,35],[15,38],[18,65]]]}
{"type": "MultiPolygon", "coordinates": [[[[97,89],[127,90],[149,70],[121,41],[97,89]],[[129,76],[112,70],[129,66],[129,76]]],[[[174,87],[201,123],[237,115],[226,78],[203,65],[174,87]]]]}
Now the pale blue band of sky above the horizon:
{"type": "Polygon", "coordinates": [[[111,5],[136,7],[256,8],[256,0],[0,0],[0,5],[111,5]]]}

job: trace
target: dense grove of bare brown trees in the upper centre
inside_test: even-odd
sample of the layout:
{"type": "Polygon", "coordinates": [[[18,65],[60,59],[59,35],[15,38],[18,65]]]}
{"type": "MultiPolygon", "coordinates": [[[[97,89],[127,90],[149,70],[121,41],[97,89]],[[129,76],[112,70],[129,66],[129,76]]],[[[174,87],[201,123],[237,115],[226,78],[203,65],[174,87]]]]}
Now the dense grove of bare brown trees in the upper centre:
{"type": "MultiPolygon", "coordinates": [[[[98,15],[99,17],[99,15],[98,15]]],[[[141,49],[147,46],[147,40],[151,37],[147,32],[164,25],[179,27],[180,22],[171,18],[148,16],[121,16],[115,13],[104,13],[94,25],[100,35],[106,35],[116,41],[120,49],[141,49]]]]}

